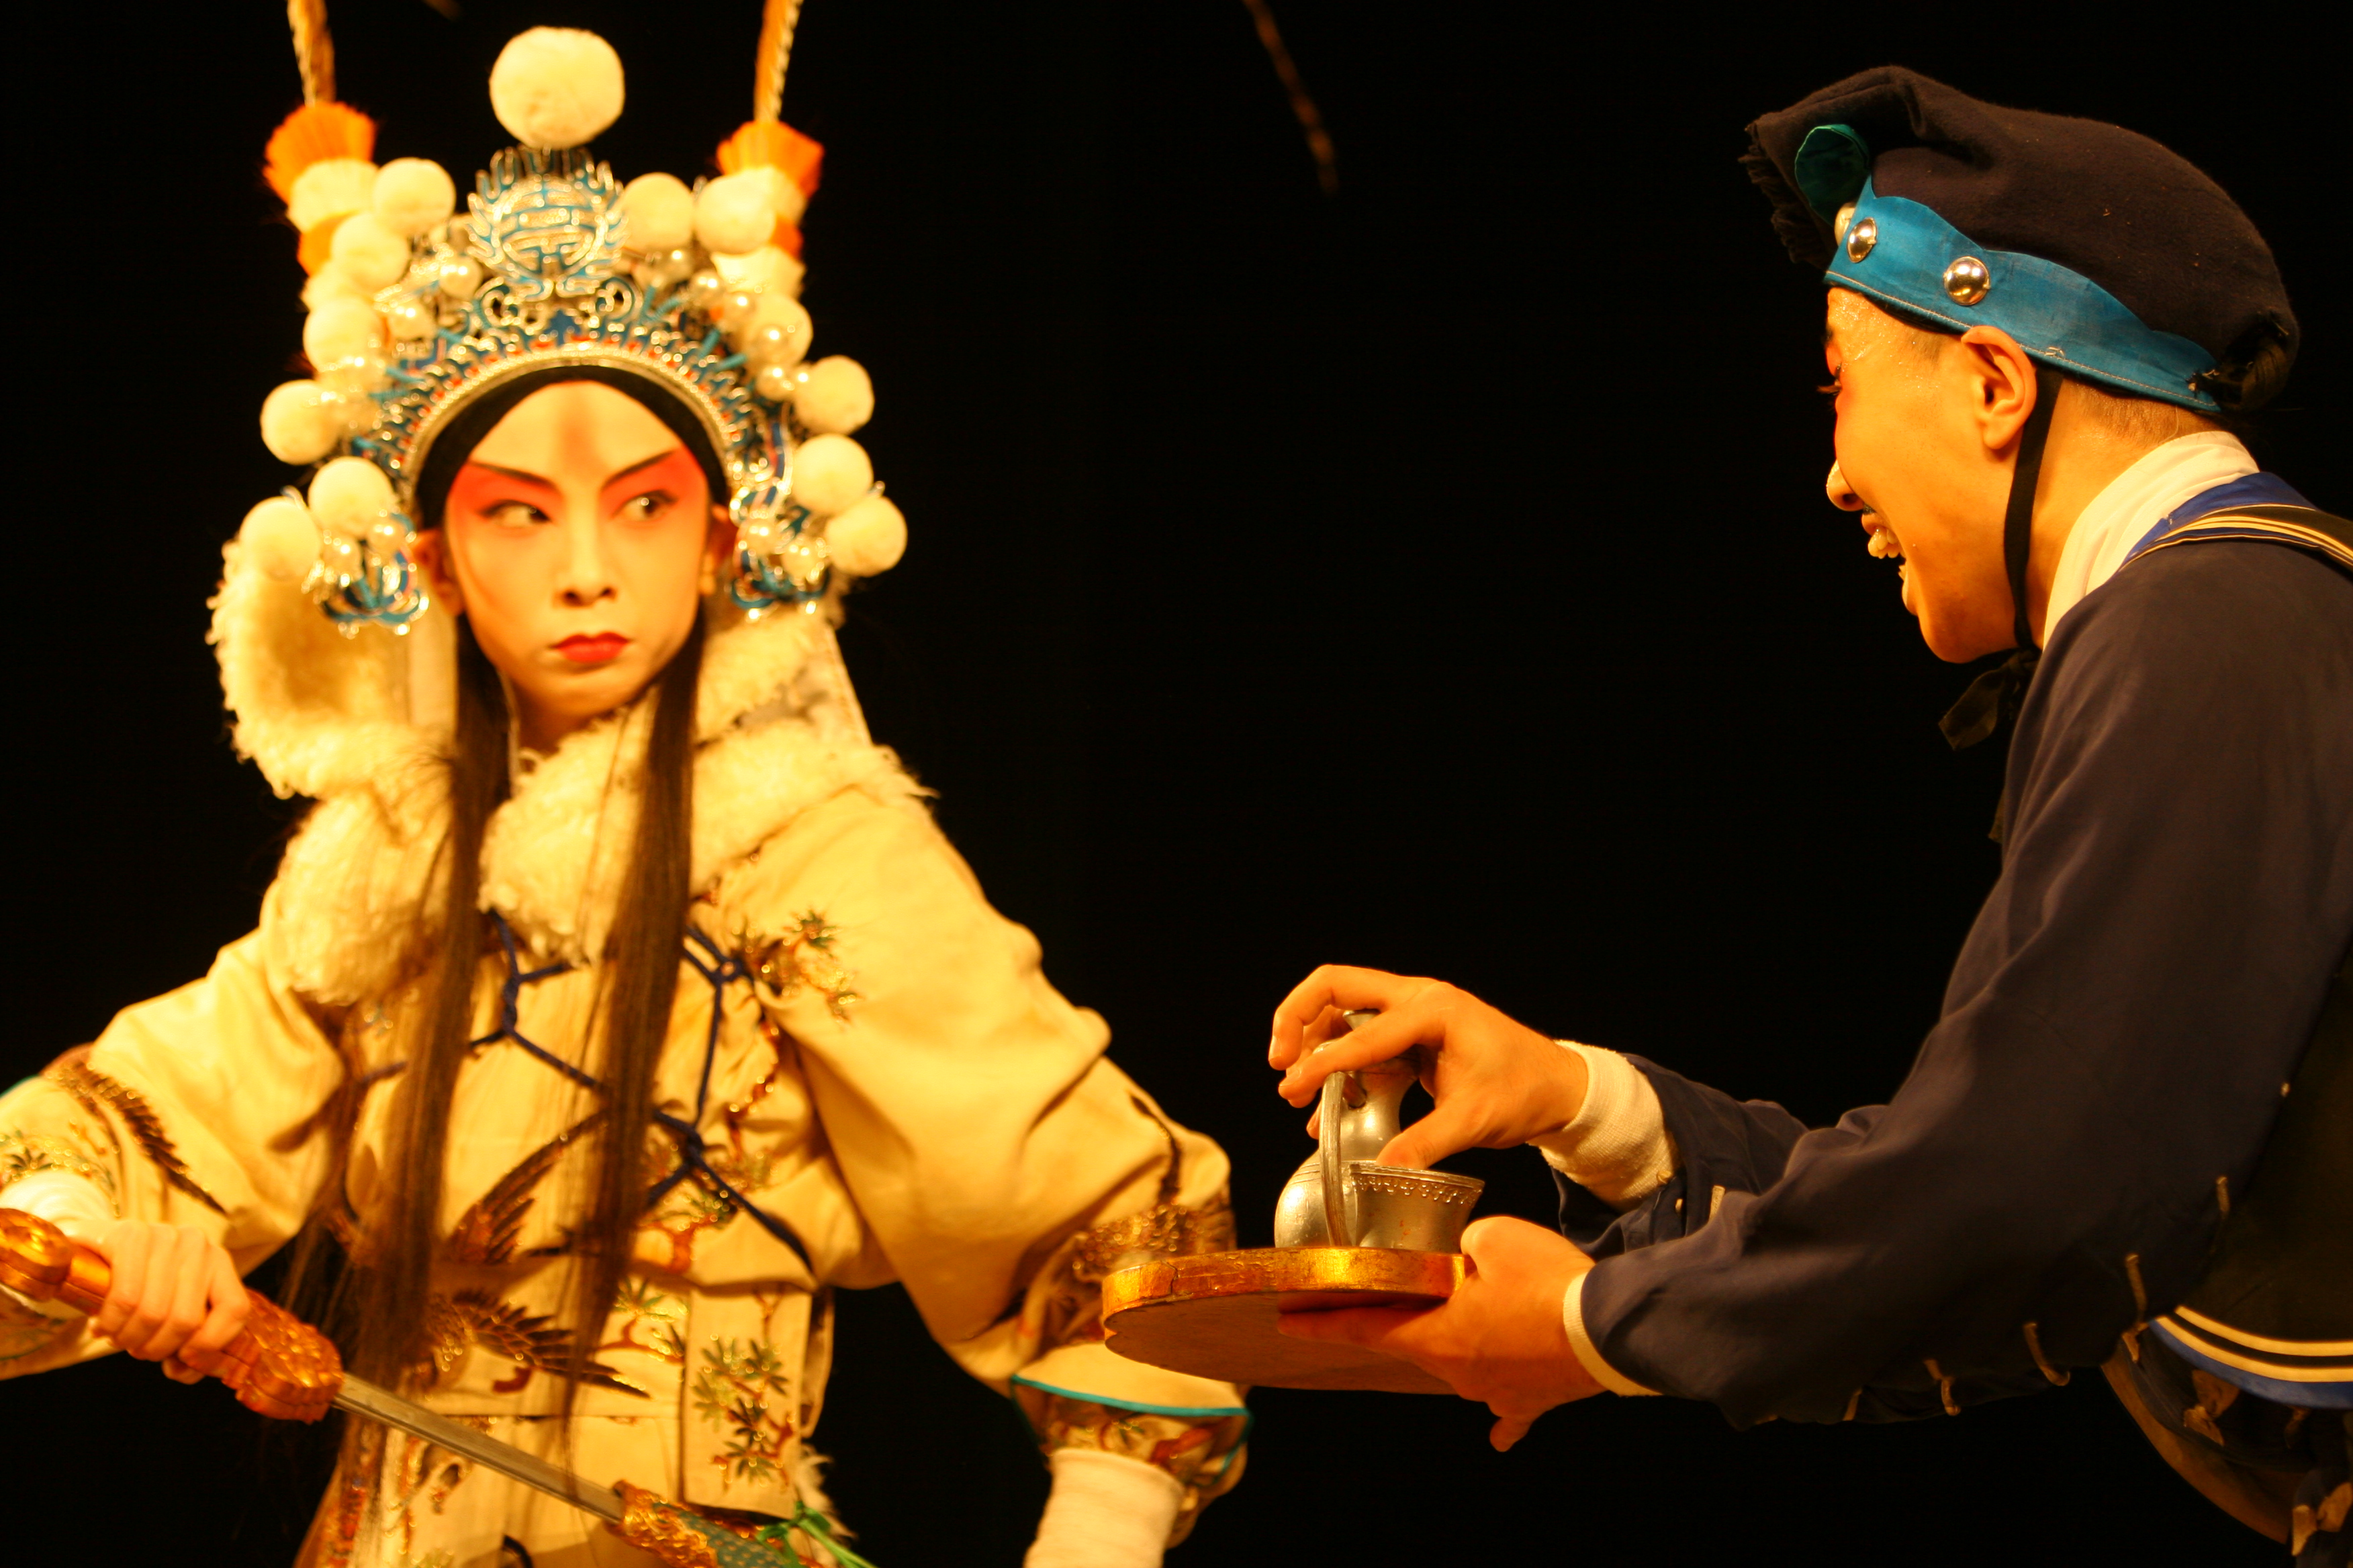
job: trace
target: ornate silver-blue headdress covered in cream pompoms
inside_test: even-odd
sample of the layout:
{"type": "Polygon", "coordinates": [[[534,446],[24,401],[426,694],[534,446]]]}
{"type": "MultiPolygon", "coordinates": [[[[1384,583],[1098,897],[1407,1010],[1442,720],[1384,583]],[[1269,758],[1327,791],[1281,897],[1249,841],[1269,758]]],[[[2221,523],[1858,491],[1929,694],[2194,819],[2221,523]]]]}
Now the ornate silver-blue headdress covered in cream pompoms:
{"type": "Polygon", "coordinates": [[[273,390],[261,440],[299,465],[238,536],[346,635],[405,635],[428,609],[412,562],[416,484],[435,440],[499,388],[579,369],[638,378],[692,414],[736,524],[722,595],[746,618],[814,611],[896,564],[906,520],[849,440],[866,371],[807,360],[798,221],[821,148],[776,118],[798,0],[769,0],[755,115],[720,176],[626,186],[588,153],[621,113],[621,61],[593,35],[532,28],[499,54],[489,101],[520,146],[475,176],[421,158],[376,167],[374,125],[334,101],[320,0],[292,0],[306,103],[271,136],[266,176],[311,273],[311,376],[273,390]]]}

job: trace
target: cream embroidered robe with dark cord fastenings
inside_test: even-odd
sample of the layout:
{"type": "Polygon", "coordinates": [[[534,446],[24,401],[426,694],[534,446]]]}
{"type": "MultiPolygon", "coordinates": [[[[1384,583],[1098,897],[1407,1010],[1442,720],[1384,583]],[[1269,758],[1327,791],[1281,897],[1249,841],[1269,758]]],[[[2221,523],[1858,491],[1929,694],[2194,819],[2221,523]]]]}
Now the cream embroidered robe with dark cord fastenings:
{"type": "MultiPolygon", "coordinates": [[[[572,1077],[595,1074],[598,973],[579,954],[609,922],[619,856],[600,851],[628,842],[628,729],[565,741],[492,823],[501,945],[482,954],[487,1044],[456,1084],[433,1359],[412,1382],[548,1455],[548,1368],[569,1347],[565,1215],[591,1166],[567,1138],[598,1105],[572,1077]]],[[[120,1215],[202,1225],[245,1269],[313,1211],[365,1244],[416,987],[334,992],[398,973],[351,950],[353,931],[384,926],[384,910],[414,919],[435,827],[412,811],[421,827],[402,837],[400,811],[353,799],[313,813],[261,926],[209,976],[122,1011],[0,1098],[0,1185],[80,1173],[120,1215]],[[329,1192],[346,1091],[355,1131],[329,1192]]],[[[802,1443],[824,1406],[828,1293],[896,1279],[958,1363],[1021,1401],[1042,1446],[1174,1474],[1181,1537],[1238,1479],[1247,1418],[1226,1385],[1106,1352],[1094,1298],[1125,1260],[1231,1246],[1224,1154],[1104,1058],[1104,1020],[1047,985],[1038,943],[988,907],[887,752],[828,748],[791,719],[725,731],[696,759],[694,837],[701,893],[647,1143],[661,1199],[598,1333],[572,1462],[706,1509],[824,1507],[802,1443]]],[[[0,1375],[106,1352],[78,1316],[0,1312],[0,1375]]],[[[329,1493],[315,1561],[494,1563],[504,1537],[539,1561],[565,1544],[584,1552],[565,1561],[649,1561],[414,1439],[388,1436],[365,1469],[329,1493]]],[[[920,1497],[920,1465],[906,1488],[920,1497]]]]}

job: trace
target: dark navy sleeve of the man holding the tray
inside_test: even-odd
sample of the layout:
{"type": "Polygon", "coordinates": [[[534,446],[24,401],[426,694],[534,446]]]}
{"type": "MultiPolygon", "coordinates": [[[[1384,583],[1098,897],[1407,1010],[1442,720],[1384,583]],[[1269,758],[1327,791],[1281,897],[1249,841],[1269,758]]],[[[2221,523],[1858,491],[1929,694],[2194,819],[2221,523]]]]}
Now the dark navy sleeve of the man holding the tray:
{"type": "Polygon", "coordinates": [[[1654,1244],[1586,1279],[1607,1363],[1739,1425],[1911,1415],[2064,1380],[2169,1309],[2353,938],[2348,712],[2353,583],[2311,557],[2169,550],[2087,597],[1894,1100],[1795,1135],[1652,1074],[1687,1168],[1612,1220],[1654,1244]]]}

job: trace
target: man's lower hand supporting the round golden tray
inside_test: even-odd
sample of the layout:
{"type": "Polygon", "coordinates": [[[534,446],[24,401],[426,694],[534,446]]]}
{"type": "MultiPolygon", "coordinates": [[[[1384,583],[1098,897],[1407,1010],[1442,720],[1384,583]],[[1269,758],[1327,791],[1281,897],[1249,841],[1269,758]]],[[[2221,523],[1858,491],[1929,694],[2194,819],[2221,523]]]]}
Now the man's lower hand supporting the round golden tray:
{"type": "Polygon", "coordinates": [[[1464,1232],[1468,1269],[1438,1307],[1285,1312],[1294,1340],[1346,1340],[1412,1361],[1497,1413],[1487,1441],[1511,1448],[1539,1415],[1602,1385],[1569,1347],[1560,1298],[1593,1267],[1574,1241],[1527,1220],[1478,1220],[1464,1232]]]}

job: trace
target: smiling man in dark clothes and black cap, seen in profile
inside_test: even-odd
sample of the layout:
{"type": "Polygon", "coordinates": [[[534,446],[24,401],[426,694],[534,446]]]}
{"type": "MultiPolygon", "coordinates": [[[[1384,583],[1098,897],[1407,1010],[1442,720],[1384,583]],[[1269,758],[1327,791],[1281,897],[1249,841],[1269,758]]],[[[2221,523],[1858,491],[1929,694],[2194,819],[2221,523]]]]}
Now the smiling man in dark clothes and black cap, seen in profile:
{"type": "Polygon", "coordinates": [[[1751,143],[1828,284],[1831,501],[1941,658],[2019,649],[1946,719],[2017,717],[2002,877],[1894,1103],[1819,1131],[1315,971],[1275,1013],[1285,1098],[1421,1046],[1438,1107],[1384,1159],[1534,1143],[1567,1239],[1485,1220],[1445,1307],[1285,1331],[1419,1361],[1499,1448],[1602,1389],[1894,1420],[2108,1363],[2209,1497],[2341,1563],[2353,527],[2228,428],[2297,348],[2271,252],[2153,141],[1908,71],[1751,143]]]}

